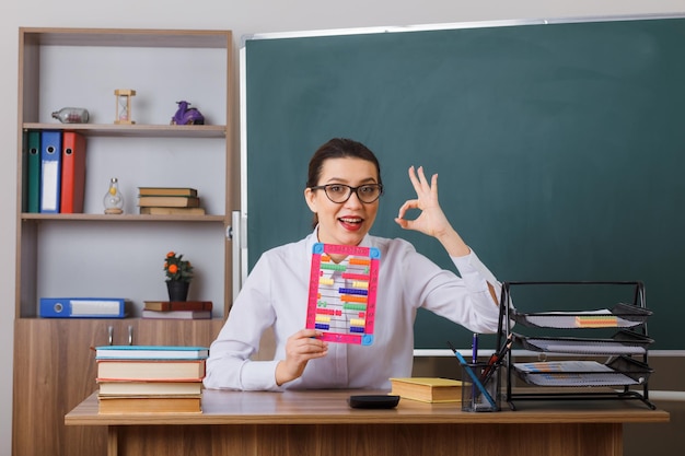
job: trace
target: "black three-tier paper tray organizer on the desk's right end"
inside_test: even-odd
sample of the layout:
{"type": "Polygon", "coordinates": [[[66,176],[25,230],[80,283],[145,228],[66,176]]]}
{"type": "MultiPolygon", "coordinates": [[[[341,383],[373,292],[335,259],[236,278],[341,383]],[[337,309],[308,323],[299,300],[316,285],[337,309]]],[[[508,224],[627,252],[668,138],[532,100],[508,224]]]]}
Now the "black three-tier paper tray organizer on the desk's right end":
{"type": "Polygon", "coordinates": [[[642,282],[503,282],[499,307],[498,347],[511,339],[514,348],[562,356],[562,361],[514,362],[515,350],[507,353],[503,394],[512,410],[515,401],[545,399],[637,399],[655,408],[648,387],[652,373],[648,352],[653,340],[647,334],[647,320],[652,312],[647,308],[642,282]],[[512,297],[513,289],[541,285],[522,292],[521,300],[512,297]],[[544,297],[536,291],[543,291],[544,297]],[[623,301],[628,293],[632,303],[623,301]],[[572,296],[573,308],[584,301],[596,304],[600,296],[611,304],[606,308],[589,305],[587,312],[548,311],[549,295],[567,305],[572,296]],[[523,312],[526,307],[545,312],[523,312]],[[514,377],[535,387],[518,384],[514,389],[514,377]]]}

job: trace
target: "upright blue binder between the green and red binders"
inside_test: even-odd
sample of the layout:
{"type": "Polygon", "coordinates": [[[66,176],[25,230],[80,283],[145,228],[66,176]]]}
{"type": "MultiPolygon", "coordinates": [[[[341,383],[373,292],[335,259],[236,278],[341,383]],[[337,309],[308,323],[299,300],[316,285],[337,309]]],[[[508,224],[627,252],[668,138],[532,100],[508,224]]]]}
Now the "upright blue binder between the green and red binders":
{"type": "Polygon", "coordinates": [[[59,213],[61,189],[61,131],[40,133],[40,212],[59,213]]]}

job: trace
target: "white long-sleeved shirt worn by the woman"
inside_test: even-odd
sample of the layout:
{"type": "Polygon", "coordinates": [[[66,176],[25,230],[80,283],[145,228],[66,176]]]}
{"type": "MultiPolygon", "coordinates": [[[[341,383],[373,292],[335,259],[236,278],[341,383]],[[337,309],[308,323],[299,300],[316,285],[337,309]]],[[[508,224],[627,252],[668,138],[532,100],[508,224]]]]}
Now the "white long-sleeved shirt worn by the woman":
{"type": "Polygon", "coordinates": [[[487,283],[500,283],[475,253],[452,257],[460,271],[441,269],[403,239],[367,235],[362,247],[381,252],[373,343],[330,342],[328,353],[307,363],[302,376],[281,387],[276,365],[286,342],[306,324],[312,248],[316,233],[262,255],[210,347],[205,386],[242,390],[286,388],[390,389],[391,377],[411,376],[414,320],[427,308],[474,332],[496,332],[499,307],[487,283]],[[274,327],[274,361],[253,361],[262,334],[274,327]]]}

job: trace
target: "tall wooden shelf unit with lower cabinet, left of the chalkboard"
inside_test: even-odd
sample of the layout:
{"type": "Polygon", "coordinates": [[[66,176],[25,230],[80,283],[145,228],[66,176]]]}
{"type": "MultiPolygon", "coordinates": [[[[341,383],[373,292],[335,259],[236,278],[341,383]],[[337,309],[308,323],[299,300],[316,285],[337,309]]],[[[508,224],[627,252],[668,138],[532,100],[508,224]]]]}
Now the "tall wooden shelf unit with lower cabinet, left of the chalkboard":
{"type": "Polygon", "coordinates": [[[228,233],[240,201],[235,75],[231,31],[20,27],[13,455],[104,454],[102,432],[70,432],[63,416],[96,389],[90,347],[108,343],[109,328],[114,343],[128,343],[129,331],[132,343],[209,346],[217,337],[232,304],[228,233]],[[135,125],[114,124],[123,87],[137,91],[135,125]],[[207,125],[170,125],[182,100],[207,125]],[[91,122],[51,119],[66,106],[89,109],[91,122]],[[83,213],[22,211],[30,130],[86,137],[83,213]],[[123,215],[104,214],[111,177],[125,195],[123,215]],[[207,214],[141,215],[138,186],[198,188],[207,214]],[[172,249],[193,261],[190,299],[211,300],[212,319],[137,317],[144,300],[166,297],[162,264],[172,249]],[[42,296],[120,296],[133,311],[39,318],[42,296]]]}

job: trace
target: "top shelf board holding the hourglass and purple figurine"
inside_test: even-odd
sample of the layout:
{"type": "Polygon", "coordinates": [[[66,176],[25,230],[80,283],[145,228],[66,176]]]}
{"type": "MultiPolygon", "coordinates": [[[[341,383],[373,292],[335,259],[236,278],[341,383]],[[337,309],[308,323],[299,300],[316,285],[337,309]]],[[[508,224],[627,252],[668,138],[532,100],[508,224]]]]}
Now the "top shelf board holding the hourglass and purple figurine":
{"type": "Polygon", "coordinates": [[[24,122],[24,130],[77,131],[85,136],[139,138],[225,138],[225,125],[116,125],[24,122]]]}

